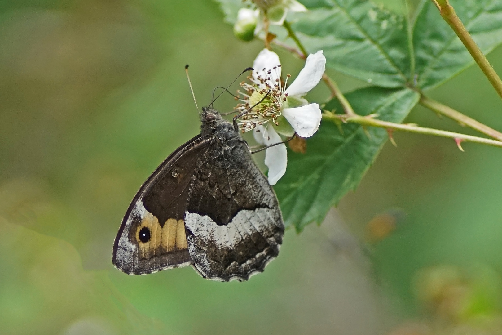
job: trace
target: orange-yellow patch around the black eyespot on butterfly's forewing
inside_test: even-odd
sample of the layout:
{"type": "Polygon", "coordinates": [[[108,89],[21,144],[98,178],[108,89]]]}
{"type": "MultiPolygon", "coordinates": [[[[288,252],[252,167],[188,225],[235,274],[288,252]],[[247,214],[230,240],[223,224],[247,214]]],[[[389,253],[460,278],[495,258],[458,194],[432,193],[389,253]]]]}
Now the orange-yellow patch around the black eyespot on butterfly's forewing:
{"type": "Polygon", "coordinates": [[[138,243],[138,256],[140,259],[150,259],[165,254],[176,254],[188,250],[185,235],[185,221],[169,218],[161,227],[155,215],[147,212],[141,224],[136,228],[136,242],[138,243]],[[143,242],[140,232],[144,228],[149,231],[149,239],[143,242]]]}

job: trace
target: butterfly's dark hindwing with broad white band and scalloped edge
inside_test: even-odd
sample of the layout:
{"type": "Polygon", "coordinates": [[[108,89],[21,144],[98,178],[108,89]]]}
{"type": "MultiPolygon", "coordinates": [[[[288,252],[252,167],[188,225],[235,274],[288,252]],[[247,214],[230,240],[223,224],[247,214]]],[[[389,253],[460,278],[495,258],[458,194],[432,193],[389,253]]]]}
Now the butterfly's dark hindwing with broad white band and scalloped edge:
{"type": "Polygon", "coordinates": [[[199,157],[185,227],[194,267],[208,279],[247,280],[279,254],[279,203],[243,141],[213,141],[199,157]]]}

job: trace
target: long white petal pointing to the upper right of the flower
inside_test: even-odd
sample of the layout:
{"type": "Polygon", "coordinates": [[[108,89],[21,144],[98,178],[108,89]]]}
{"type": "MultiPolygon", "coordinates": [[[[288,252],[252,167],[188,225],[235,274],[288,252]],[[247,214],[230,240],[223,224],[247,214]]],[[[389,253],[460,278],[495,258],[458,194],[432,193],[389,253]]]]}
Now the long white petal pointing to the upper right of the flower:
{"type": "Polygon", "coordinates": [[[325,65],[326,57],[322,54],[322,50],[310,54],[295,81],[286,88],[286,93],[289,95],[304,95],[310,91],[321,80],[325,65]]]}

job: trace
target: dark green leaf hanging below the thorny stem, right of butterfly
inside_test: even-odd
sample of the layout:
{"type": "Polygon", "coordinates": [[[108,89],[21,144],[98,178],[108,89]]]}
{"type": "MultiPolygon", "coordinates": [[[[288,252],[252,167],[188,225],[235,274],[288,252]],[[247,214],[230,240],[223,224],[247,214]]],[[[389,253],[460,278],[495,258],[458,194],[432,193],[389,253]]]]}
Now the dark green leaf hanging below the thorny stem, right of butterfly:
{"type": "MultiPolygon", "coordinates": [[[[409,88],[368,87],[346,98],[360,115],[378,113],[381,120],[401,123],[418,102],[419,93],[409,88]]],[[[343,110],[336,99],[324,109],[343,110]]],[[[381,128],[368,128],[369,137],[359,125],[346,124],[342,130],[323,121],[307,139],[306,154],[288,149],[286,174],[274,187],[286,226],[301,231],[313,221],[320,223],[331,206],[356,188],[388,139],[381,128]]]]}

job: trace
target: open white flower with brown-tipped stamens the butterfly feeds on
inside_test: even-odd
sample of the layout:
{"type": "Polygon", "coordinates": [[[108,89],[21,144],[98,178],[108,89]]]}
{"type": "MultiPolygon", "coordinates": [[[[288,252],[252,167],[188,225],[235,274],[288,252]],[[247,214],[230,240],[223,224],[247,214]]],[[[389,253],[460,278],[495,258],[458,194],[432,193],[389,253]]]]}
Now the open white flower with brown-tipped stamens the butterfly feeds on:
{"type": "MultiPolygon", "coordinates": [[[[248,77],[251,84],[241,82],[245,93],[242,102],[236,107],[239,113],[246,113],[238,121],[242,132],[253,130],[256,141],[264,146],[283,142],[279,134],[291,137],[311,137],[321,123],[321,110],[317,103],[310,103],[303,98],[314,88],[324,73],[326,58],[322,50],[310,54],[305,67],[296,80],[287,86],[281,83],[281,63],[275,52],[263,49],[253,63],[253,75],[248,77]],[[268,94],[267,94],[268,93],[268,94]]],[[[268,148],[265,154],[265,165],[269,168],[269,183],[275,185],[286,172],[288,163],[286,145],[279,144],[268,148]]]]}

